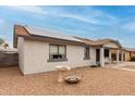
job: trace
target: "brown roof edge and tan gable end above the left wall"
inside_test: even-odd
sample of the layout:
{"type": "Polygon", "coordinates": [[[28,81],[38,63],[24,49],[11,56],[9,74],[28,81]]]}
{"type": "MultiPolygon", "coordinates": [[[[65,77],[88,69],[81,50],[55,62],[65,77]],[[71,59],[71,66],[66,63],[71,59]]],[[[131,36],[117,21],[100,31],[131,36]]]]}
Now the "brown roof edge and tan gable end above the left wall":
{"type": "Polygon", "coordinates": [[[79,46],[85,45],[84,42],[79,42],[79,41],[73,41],[73,40],[66,40],[60,38],[58,39],[52,37],[39,36],[39,35],[30,35],[24,26],[14,25],[14,39],[13,39],[14,48],[17,47],[17,37],[24,37],[25,39],[29,39],[29,40],[40,40],[48,42],[61,42],[61,43],[79,45],[79,46]]]}

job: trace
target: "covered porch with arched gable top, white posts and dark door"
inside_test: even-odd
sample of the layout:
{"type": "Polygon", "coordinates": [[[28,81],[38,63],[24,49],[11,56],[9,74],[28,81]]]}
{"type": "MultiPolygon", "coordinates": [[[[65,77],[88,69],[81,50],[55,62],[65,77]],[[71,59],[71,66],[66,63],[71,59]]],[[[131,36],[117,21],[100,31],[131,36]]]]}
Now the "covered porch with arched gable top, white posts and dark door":
{"type": "Polygon", "coordinates": [[[121,46],[115,42],[106,42],[96,48],[96,64],[105,67],[107,64],[119,64],[124,61],[124,52],[121,46]]]}

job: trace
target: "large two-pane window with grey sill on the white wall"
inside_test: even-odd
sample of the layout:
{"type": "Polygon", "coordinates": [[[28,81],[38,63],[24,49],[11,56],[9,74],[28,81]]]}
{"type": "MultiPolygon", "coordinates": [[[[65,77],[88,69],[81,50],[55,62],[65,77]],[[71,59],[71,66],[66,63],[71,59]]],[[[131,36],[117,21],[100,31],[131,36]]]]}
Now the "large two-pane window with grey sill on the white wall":
{"type": "Polygon", "coordinates": [[[50,45],[49,49],[49,61],[53,60],[65,60],[66,59],[66,47],[63,45],[50,45]]]}

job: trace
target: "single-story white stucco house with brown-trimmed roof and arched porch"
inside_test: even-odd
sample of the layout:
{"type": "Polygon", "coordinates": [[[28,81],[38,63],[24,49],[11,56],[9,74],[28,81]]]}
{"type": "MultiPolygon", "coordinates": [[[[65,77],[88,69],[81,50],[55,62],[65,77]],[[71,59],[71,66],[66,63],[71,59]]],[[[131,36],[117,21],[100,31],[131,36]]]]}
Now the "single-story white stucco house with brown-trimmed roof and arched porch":
{"type": "Polygon", "coordinates": [[[14,25],[13,46],[24,75],[53,71],[57,65],[103,67],[106,63],[119,63],[123,53],[116,40],[90,40],[22,25],[14,25]]]}

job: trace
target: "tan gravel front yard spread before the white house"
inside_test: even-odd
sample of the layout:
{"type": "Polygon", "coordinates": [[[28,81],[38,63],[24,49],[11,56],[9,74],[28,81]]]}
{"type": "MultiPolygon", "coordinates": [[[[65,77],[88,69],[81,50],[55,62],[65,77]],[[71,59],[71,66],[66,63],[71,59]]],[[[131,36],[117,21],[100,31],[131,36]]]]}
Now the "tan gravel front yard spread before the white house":
{"type": "Polygon", "coordinates": [[[135,94],[135,72],[82,67],[68,75],[82,76],[77,85],[57,83],[58,73],[23,76],[17,67],[0,68],[0,94],[135,94]]]}

